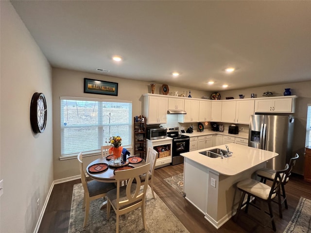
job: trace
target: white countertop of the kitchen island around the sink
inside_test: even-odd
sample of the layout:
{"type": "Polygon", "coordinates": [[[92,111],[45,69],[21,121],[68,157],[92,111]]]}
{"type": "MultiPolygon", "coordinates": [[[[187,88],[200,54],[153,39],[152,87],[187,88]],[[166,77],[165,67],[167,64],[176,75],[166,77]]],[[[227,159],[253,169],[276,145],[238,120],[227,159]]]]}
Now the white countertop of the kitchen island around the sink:
{"type": "Polygon", "coordinates": [[[235,143],[230,143],[227,145],[229,150],[233,152],[232,156],[228,158],[210,158],[199,153],[200,151],[214,148],[225,150],[225,145],[211,147],[203,150],[190,151],[182,153],[181,155],[226,176],[237,175],[278,155],[276,152],[256,149],[235,143]]]}

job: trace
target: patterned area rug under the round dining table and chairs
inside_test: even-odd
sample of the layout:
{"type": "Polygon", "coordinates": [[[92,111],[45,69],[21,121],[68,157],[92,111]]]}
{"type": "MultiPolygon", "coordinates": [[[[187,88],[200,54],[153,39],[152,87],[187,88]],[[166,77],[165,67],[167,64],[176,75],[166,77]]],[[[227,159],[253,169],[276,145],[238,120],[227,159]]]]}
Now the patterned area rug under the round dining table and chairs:
{"type": "MultiPolygon", "coordinates": [[[[116,214],[111,208],[110,218],[106,219],[107,209],[99,209],[103,199],[93,200],[90,203],[88,224],[83,228],[84,209],[83,187],[81,183],[73,186],[71,211],[69,219],[69,233],[114,233],[116,232],[116,214]]],[[[174,216],[173,212],[156,195],[152,197],[148,187],[146,195],[146,222],[147,230],[143,229],[141,210],[138,208],[120,216],[120,233],[189,233],[184,225],[174,216]]]]}

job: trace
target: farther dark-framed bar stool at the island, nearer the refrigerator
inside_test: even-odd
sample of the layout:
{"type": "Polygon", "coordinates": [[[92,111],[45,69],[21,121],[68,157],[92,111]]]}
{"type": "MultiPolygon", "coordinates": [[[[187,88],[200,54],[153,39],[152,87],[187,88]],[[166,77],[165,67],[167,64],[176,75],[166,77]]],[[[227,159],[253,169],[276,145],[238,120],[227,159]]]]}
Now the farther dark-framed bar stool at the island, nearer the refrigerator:
{"type": "MultiPolygon", "coordinates": [[[[285,204],[285,209],[288,209],[284,185],[286,183],[288,183],[290,176],[292,174],[292,170],[293,170],[295,163],[296,163],[296,160],[298,158],[299,158],[299,155],[296,153],[295,157],[292,157],[290,159],[289,169],[287,169],[287,171],[285,172],[284,180],[281,181],[282,193],[280,193],[280,195],[283,198],[283,200],[278,200],[278,202],[277,202],[279,205],[279,210],[280,210],[279,211],[280,218],[282,218],[282,216],[283,216],[282,215],[282,204],[283,203],[285,204]]],[[[262,182],[262,183],[266,183],[267,180],[273,181],[275,179],[275,176],[276,176],[276,170],[269,169],[269,168],[261,168],[261,169],[257,170],[256,173],[260,177],[260,182],[262,182]]]]}

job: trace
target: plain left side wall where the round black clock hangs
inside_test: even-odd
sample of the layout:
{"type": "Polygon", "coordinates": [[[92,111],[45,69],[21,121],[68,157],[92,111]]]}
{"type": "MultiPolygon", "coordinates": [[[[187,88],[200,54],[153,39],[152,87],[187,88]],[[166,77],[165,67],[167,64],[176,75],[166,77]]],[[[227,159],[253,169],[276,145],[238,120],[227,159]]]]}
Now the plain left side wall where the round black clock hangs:
{"type": "Polygon", "coordinates": [[[53,181],[52,72],[10,1],[0,1],[0,16],[0,232],[30,233],[53,181]],[[48,105],[40,134],[30,125],[34,92],[44,93],[48,105]]]}

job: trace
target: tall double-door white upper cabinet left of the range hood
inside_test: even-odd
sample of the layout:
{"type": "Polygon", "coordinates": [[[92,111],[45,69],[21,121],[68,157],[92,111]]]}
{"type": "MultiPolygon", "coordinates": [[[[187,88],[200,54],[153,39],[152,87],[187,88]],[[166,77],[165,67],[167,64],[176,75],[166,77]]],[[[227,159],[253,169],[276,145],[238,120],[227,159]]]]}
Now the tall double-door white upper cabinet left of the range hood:
{"type": "Polygon", "coordinates": [[[165,124],[167,121],[168,98],[144,96],[144,116],[147,124],[165,124]]]}

